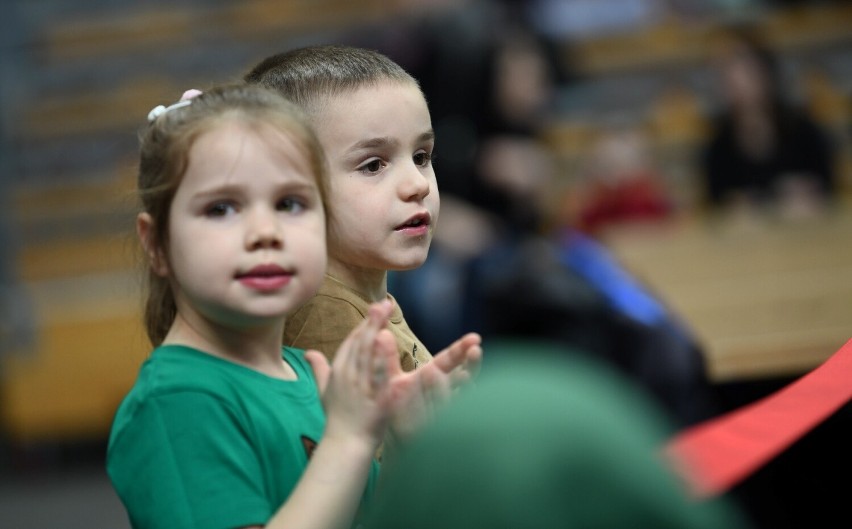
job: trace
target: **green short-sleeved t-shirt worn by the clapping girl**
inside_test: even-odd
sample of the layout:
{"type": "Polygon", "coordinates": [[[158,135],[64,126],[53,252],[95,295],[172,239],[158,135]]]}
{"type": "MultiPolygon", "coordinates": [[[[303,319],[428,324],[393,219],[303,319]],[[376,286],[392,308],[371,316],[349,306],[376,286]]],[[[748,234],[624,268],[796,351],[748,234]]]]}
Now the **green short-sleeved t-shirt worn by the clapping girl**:
{"type": "MultiPolygon", "coordinates": [[[[263,525],[284,503],[325,426],[309,364],[268,377],[184,346],[161,346],[116,413],[107,472],[136,529],[263,525]]],[[[367,493],[378,471],[374,463],[367,493]]],[[[366,496],[366,494],[365,494],[366,496]]]]}

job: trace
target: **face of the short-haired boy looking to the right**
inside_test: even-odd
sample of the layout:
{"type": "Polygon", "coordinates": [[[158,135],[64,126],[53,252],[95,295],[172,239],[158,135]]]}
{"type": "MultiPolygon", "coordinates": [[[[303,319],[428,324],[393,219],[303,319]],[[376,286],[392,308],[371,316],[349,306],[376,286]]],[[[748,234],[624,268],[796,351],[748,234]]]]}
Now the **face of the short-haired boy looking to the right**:
{"type": "Polygon", "coordinates": [[[434,134],[413,83],[384,82],[329,98],[315,120],[329,161],[329,267],[423,264],[438,220],[434,134]]]}

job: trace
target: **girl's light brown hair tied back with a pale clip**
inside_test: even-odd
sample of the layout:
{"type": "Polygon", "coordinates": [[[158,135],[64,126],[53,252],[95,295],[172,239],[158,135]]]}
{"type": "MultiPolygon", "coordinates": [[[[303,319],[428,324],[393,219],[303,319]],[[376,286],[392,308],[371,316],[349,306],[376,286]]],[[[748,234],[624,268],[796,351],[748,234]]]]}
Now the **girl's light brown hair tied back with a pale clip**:
{"type": "MultiPolygon", "coordinates": [[[[142,211],[152,219],[148,243],[166,261],[169,212],[189,164],[189,151],[202,134],[226,120],[238,120],[257,130],[272,127],[291,138],[308,161],[322,203],[326,203],[325,155],[300,107],[261,86],[233,84],[207,90],[188,104],[153,118],[141,134],[137,190],[142,211]]],[[[148,338],[157,346],[165,339],[177,308],[168,278],[157,275],[150,265],[146,278],[144,324],[148,338]]]]}

